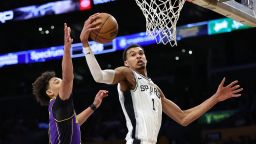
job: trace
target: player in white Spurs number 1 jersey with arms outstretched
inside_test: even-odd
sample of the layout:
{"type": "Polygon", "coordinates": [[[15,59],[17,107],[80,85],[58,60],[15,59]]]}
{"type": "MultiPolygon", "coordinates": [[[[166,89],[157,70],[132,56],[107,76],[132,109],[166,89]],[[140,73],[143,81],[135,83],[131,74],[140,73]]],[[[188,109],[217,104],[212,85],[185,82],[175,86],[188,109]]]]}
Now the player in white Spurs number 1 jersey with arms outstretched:
{"type": "Polygon", "coordinates": [[[89,17],[80,34],[86,61],[94,80],[98,83],[118,84],[118,94],[126,118],[127,144],[156,144],[162,121],[162,111],[182,126],[198,119],[218,102],[241,96],[243,90],[233,81],[224,86],[221,81],[216,93],[203,103],[181,110],[168,100],[161,89],[147,75],[147,59],[139,45],[131,45],[124,50],[124,65],[115,70],[102,70],[88,45],[92,23],[98,14],[89,17]]]}

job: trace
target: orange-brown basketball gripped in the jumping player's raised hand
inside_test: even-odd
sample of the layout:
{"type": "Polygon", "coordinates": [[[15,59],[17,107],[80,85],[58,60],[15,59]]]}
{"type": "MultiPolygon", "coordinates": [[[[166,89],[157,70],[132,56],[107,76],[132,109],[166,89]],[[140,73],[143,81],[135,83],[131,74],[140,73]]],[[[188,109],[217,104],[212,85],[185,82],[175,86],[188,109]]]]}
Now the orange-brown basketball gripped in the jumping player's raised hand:
{"type": "Polygon", "coordinates": [[[99,18],[94,22],[101,21],[99,29],[93,30],[90,33],[90,38],[98,43],[111,42],[118,33],[118,23],[116,19],[108,13],[100,13],[99,18]]]}

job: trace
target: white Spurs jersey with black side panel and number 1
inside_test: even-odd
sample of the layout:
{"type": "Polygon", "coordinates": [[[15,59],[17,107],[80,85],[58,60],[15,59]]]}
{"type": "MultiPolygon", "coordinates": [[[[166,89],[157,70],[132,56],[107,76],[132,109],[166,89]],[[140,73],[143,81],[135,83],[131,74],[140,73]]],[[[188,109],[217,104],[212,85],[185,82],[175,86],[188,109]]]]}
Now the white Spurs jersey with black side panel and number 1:
{"type": "Polygon", "coordinates": [[[123,92],[118,84],[119,100],[126,119],[126,144],[156,144],[162,122],[160,92],[151,79],[133,71],[134,90],[123,92]]]}

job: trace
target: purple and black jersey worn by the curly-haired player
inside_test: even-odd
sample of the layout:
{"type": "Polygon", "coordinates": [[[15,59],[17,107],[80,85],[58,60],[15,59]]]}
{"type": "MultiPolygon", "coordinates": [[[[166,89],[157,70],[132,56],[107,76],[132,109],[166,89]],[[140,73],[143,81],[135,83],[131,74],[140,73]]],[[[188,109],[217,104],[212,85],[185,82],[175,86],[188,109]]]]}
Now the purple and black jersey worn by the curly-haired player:
{"type": "Polygon", "coordinates": [[[50,101],[48,111],[50,143],[80,144],[80,126],[76,121],[72,98],[63,101],[57,96],[50,101]]]}

